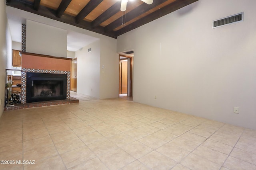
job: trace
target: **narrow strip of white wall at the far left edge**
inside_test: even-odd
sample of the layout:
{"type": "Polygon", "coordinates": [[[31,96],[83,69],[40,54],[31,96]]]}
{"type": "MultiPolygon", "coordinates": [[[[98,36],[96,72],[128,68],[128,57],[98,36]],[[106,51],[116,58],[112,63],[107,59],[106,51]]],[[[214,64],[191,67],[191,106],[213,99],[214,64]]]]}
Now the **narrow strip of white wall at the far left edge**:
{"type": "Polygon", "coordinates": [[[4,111],[5,84],[6,84],[6,59],[8,53],[6,43],[12,42],[7,24],[5,1],[0,2],[0,117],[4,111]]]}

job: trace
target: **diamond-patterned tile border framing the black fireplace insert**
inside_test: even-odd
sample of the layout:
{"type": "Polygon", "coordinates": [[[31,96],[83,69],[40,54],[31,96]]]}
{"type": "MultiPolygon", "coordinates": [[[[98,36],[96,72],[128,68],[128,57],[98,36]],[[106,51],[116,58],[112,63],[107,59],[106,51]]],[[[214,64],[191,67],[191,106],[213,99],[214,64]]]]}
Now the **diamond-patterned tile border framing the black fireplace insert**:
{"type": "Polygon", "coordinates": [[[37,72],[37,73],[54,73],[54,74],[67,74],[67,99],[70,99],[70,71],[63,70],[45,70],[36,68],[22,68],[21,69],[21,103],[26,103],[26,78],[27,72],[37,72]]]}

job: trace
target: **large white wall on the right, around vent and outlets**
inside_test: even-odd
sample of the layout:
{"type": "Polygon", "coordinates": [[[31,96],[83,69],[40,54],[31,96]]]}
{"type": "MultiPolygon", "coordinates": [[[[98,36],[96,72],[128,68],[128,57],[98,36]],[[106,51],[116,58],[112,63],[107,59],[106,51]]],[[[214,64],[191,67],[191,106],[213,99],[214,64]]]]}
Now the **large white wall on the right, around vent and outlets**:
{"type": "Polygon", "coordinates": [[[134,49],[134,101],[256,129],[255,6],[200,0],[119,36],[118,52],[134,49]]]}

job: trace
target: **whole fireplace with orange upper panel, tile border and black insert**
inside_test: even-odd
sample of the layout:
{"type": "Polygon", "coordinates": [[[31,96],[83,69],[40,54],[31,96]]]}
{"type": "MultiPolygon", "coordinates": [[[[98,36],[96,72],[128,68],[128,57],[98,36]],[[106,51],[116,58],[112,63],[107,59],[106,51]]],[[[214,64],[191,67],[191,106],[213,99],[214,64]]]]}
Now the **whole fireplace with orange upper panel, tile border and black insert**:
{"type": "Polygon", "coordinates": [[[70,99],[71,59],[22,53],[21,103],[70,99]]]}

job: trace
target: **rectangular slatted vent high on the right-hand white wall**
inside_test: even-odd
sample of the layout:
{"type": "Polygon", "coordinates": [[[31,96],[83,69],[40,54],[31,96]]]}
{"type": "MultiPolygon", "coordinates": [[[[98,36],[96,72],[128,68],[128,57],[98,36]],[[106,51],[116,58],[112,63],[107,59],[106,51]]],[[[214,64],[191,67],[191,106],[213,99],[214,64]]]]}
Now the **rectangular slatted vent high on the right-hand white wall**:
{"type": "Polygon", "coordinates": [[[244,21],[244,12],[212,21],[212,28],[244,21]]]}

